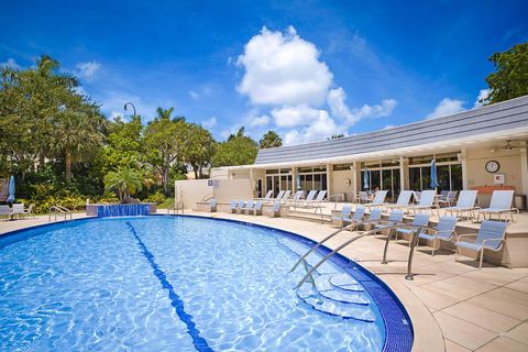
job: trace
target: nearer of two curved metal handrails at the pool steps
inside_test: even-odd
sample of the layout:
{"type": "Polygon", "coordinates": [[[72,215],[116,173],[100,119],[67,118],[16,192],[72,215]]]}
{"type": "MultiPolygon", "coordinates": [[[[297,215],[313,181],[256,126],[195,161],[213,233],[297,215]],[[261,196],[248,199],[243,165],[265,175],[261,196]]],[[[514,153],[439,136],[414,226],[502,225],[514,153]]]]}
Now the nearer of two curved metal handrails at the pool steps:
{"type": "Polygon", "coordinates": [[[311,267],[311,270],[306,273],[306,275],[302,277],[302,279],[297,284],[297,286],[295,288],[299,288],[307,279],[308,277],[310,277],[312,275],[312,273],[319,267],[322,265],[322,263],[324,263],[327,260],[329,260],[330,257],[332,257],[336,253],[338,253],[339,251],[341,251],[342,249],[344,249],[346,245],[351,244],[352,242],[355,242],[358,241],[359,239],[361,238],[364,238],[369,234],[373,234],[373,233],[376,233],[376,232],[380,232],[381,230],[388,230],[389,233],[387,235],[387,239],[386,239],[386,243],[385,243],[385,249],[384,249],[384,258],[383,258],[383,262],[382,264],[386,264],[386,253],[387,253],[387,248],[388,248],[388,242],[391,240],[391,237],[392,237],[392,232],[394,230],[397,230],[397,229],[410,229],[410,230],[414,230],[414,233],[413,233],[413,238],[411,238],[411,246],[410,246],[410,252],[409,252],[409,258],[408,258],[408,264],[407,264],[407,275],[405,276],[406,279],[413,279],[413,254],[415,252],[415,246],[416,246],[416,243],[417,243],[417,240],[418,239],[418,235],[414,235],[415,233],[418,233],[420,232],[424,228],[427,228],[427,227],[413,227],[410,224],[404,224],[404,223],[398,223],[396,226],[392,226],[392,227],[387,227],[387,228],[383,228],[383,229],[373,229],[373,230],[370,230],[370,231],[366,231],[366,232],[363,232],[363,233],[360,233],[358,234],[356,237],[353,237],[352,239],[341,243],[338,248],[336,248],[332,252],[330,252],[329,254],[327,254],[322,260],[320,260],[316,265],[314,265],[311,267]]]}

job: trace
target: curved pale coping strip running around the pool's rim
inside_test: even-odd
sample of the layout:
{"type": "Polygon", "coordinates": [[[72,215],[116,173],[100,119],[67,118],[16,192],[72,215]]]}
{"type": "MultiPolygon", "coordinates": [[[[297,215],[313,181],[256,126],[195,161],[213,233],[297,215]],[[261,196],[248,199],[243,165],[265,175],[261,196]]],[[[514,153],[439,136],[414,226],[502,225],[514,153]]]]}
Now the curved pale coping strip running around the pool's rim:
{"type": "MultiPolygon", "coordinates": [[[[175,215],[165,215],[165,213],[154,213],[151,216],[175,217],[175,215]]],[[[219,213],[219,212],[215,212],[215,213],[190,212],[190,213],[176,215],[176,216],[208,218],[208,219],[215,219],[215,220],[226,220],[226,221],[238,222],[238,223],[246,223],[251,226],[257,226],[257,227],[267,228],[267,229],[272,229],[280,232],[290,233],[294,235],[305,238],[309,241],[316,241],[315,239],[310,238],[308,233],[304,233],[304,231],[298,231],[296,229],[277,228],[277,227],[274,227],[273,224],[262,224],[262,223],[252,221],[253,219],[251,217],[248,217],[248,218],[244,217],[242,220],[242,219],[233,218],[229,213],[219,213]]],[[[258,217],[258,218],[262,218],[262,217],[258,217]]],[[[3,238],[6,235],[16,234],[25,230],[44,228],[44,227],[48,227],[48,226],[53,226],[62,222],[74,222],[74,221],[90,220],[90,219],[97,219],[97,217],[85,216],[81,218],[66,220],[66,221],[61,220],[61,221],[46,222],[46,223],[29,224],[28,227],[24,227],[24,228],[2,232],[0,233],[0,238],[3,238]]],[[[290,228],[288,223],[283,223],[283,227],[284,226],[286,226],[286,228],[290,228]]],[[[312,224],[312,226],[321,227],[322,229],[324,228],[323,226],[320,226],[320,224],[312,224]]],[[[409,289],[405,284],[397,282],[396,279],[391,279],[391,277],[387,277],[387,279],[380,277],[378,275],[373,273],[369,267],[356,263],[352,257],[350,257],[346,254],[342,254],[342,253],[339,253],[339,254],[342,257],[355,263],[358,266],[361,266],[371,276],[375,277],[378,284],[382,284],[382,286],[385,285],[389,288],[389,293],[395,296],[396,300],[399,301],[399,304],[403,306],[404,311],[410,317],[411,330],[414,332],[413,333],[414,334],[413,351],[428,351],[428,352],[446,351],[443,334],[440,330],[440,327],[438,326],[438,322],[436,321],[435,317],[429,311],[429,309],[424,305],[424,302],[418,298],[418,296],[416,296],[416,294],[411,292],[411,289],[409,289]]]]}

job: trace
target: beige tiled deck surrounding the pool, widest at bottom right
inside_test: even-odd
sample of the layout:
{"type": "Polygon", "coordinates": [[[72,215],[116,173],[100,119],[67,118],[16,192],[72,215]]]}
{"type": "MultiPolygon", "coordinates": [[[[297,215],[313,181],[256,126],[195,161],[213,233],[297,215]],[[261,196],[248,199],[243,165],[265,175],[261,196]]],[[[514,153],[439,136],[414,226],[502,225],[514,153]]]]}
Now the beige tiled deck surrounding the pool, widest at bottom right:
{"type": "MultiPolygon", "coordinates": [[[[166,215],[166,210],[158,210],[166,215]]],[[[333,232],[328,224],[304,220],[186,211],[187,215],[234,219],[290,231],[315,241],[333,232]]],[[[88,218],[76,213],[74,219],[88,218]]],[[[524,217],[521,217],[524,218],[524,217]]],[[[0,221],[0,234],[47,222],[35,219],[0,221]]],[[[524,228],[525,219],[518,227],[524,228]]],[[[328,241],[336,248],[350,232],[328,241]]],[[[449,251],[433,257],[424,248],[414,258],[414,280],[406,280],[409,249],[391,243],[388,264],[381,264],[385,241],[362,238],[345,248],[343,255],[356,261],[383,279],[409,312],[414,329],[414,351],[528,351],[528,268],[509,270],[485,265],[477,270],[471,258],[454,261],[449,251]]]]}

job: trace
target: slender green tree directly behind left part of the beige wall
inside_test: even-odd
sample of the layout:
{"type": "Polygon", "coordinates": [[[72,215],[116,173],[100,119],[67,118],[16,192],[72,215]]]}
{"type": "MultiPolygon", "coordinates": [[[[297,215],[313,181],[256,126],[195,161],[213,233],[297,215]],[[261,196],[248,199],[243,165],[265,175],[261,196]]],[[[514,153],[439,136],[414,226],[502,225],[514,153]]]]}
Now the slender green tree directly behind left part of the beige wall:
{"type": "Polygon", "coordinates": [[[204,168],[209,167],[217,143],[209,131],[196,123],[188,124],[188,138],[184,160],[195,172],[195,178],[204,178],[204,168]]]}

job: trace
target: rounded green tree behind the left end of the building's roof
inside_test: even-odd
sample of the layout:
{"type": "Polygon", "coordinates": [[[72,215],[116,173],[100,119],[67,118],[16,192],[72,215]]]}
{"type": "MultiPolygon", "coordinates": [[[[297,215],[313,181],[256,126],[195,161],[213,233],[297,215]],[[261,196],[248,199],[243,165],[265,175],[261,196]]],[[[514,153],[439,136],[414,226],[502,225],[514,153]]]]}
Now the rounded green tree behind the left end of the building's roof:
{"type": "Polygon", "coordinates": [[[244,128],[239,129],[237,134],[220,143],[211,160],[213,167],[249,165],[256,158],[258,145],[255,141],[244,135],[244,128]]]}

